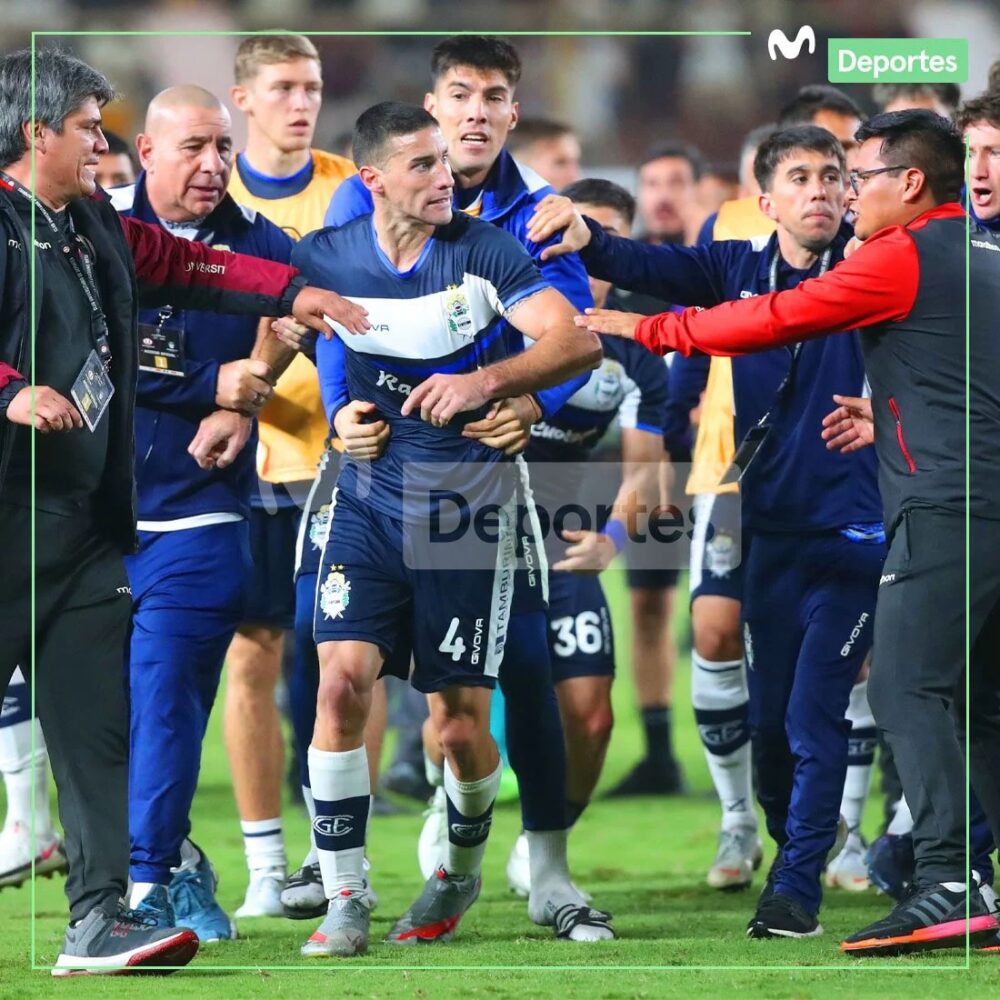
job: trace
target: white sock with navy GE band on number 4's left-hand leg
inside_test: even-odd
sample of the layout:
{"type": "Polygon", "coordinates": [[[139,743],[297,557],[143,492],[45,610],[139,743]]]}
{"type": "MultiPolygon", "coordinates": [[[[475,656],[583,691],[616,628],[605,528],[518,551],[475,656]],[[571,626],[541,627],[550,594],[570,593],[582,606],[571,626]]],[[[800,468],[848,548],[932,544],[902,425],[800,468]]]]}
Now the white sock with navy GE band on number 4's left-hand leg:
{"type": "Polygon", "coordinates": [[[327,899],[364,890],[365,833],[371,801],[368,752],[309,747],[309,783],[316,804],[313,837],[327,899]]]}

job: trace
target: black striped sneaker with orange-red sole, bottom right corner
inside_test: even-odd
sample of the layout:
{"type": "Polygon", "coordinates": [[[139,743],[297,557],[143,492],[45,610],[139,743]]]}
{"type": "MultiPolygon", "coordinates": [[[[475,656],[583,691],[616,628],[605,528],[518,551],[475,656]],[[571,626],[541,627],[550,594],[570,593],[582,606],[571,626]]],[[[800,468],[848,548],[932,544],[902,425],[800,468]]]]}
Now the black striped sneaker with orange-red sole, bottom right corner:
{"type": "Polygon", "coordinates": [[[997,918],[978,892],[954,892],[935,883],[915,886],[887,917],[852,934],[840,948],[852,955],[898,955],[927,948],[953,948],[964,946],[966,929],[972,944],[979,944],[994,937],[998,927],[997,918]]]}

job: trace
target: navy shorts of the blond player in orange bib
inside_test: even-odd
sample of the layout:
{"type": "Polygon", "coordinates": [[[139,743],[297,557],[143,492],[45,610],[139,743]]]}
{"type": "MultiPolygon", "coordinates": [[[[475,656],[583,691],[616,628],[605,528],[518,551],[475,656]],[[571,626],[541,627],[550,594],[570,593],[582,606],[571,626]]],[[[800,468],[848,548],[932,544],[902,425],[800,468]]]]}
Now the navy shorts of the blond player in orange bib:
{"type": "Polygon", "coordinates": [[[247,583],[244,622],[293,628],[295,625],[295,538],[299,508],[270,512],[250,509],[250,554],[253,572],[247,583]]]}

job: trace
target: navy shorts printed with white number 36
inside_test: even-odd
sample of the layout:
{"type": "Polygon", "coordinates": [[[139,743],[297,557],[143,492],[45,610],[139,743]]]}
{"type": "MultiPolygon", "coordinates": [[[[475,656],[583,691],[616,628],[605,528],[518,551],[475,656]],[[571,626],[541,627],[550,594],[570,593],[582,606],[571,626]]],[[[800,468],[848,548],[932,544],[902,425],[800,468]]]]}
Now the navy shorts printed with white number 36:
{"type": "Polygon", "coordinates": [[[611,615],[598,576],[549,577],[549,659],[554,684],[569,677],[614,676],[611,615]]]}

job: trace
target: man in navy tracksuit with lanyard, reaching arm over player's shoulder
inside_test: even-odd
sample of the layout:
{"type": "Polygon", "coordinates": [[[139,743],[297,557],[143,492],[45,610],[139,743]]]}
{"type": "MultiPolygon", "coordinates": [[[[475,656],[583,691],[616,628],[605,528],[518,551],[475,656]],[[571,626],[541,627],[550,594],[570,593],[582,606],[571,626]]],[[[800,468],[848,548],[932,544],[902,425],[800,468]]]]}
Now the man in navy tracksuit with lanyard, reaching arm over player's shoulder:
{"type": "MultiPolygon", "coordinates": [[[[555,201],[540,207],[533,233],[547,238],[571,217],[563,244],[582,250],[596,276],[694,304],[795,287],[828,270],[851,235],[842,228],[840,144],[815,126],[785,129],[764,141],[754,169],[761,207],[777,224],[762,247],[648,247],[610,237],[555,201]]],[[[623,315],[600,313],[609,328],[634,323],[607,319],[623,315]]],[[[871,642],[885,552],[875,463],[852,462],[855,454],[831,462],[813,431],[838,383],[857,386],[858,395],[864,384],[850,331],[733,362],[737,437],[762,438],[753,463],[744,458],[739,467],[749,530],[743,623],[758,799],[779,847],[747,927],[752,937],[822,932],[820,873],[847,769],[844,716],[871,642]]]]}

